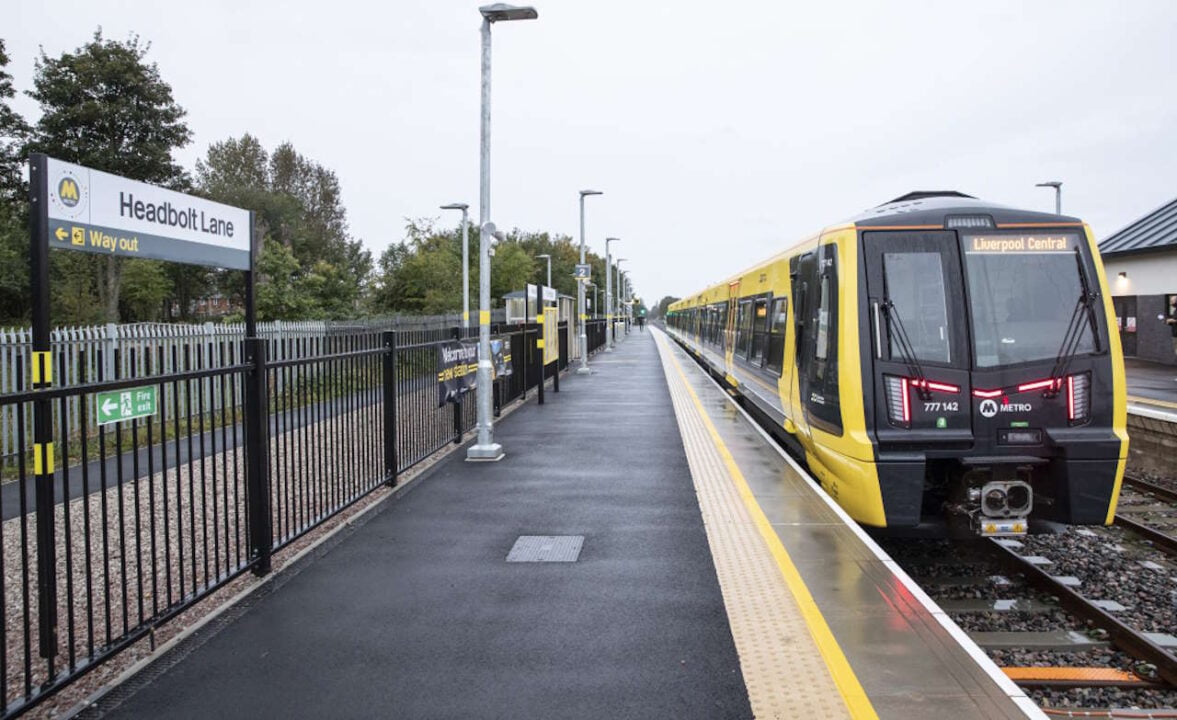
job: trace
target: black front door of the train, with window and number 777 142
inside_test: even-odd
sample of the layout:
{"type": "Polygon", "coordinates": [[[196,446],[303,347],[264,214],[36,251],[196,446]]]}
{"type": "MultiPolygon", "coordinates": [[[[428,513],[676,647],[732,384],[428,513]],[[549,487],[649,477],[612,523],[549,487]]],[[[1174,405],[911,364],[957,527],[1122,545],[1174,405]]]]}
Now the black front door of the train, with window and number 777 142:
{"type": "Polygon", "coordinates": [[[866,232],[863,256],[875,366],[864,381],[875,387],[879,441],[971,438],[971,361],[956,233],[866,232]]]}

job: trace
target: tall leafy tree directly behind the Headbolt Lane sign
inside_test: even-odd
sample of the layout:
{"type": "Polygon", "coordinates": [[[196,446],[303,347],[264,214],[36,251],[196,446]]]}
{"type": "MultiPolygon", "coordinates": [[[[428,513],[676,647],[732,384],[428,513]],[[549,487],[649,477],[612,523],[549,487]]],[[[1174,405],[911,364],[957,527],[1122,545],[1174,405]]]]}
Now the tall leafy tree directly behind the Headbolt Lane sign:
{"type": "MultiPolygon", "coordinates": [[[[146,61],[149,44],[138,35],[126,41],[107,40],[101,29],[73,53],[36,61],[34,89],[28,93],[41,106],[29,149],[60,160],[124,175],[134,180],[184,189],[187,175],[172,153],[188,144],[192,133],[185,111],[172,96],[172,87],[159,67],[146,61]]],[[[62,253],[54,253],[54,256],[62,253]]],[[[65,272],[94,275],[94,289],[105,319],[119,319],[124,266],[141,260],[109,255],[84,262],[54,262],[54,282],[65,272]]],[[[146,278],[152,273],[133,273],[146,278]]],[[[81,282],[73,281],[79,287],[81,282]]]]}

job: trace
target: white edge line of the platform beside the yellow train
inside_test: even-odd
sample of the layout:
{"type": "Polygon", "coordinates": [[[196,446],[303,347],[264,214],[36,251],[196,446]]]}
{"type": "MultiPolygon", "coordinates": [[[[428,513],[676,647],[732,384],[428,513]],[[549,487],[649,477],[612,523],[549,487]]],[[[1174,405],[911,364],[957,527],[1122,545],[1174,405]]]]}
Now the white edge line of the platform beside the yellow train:
{"type": "MultiPolygon", "coordinates": [[[[653,328],[653,326],[651,327],[653,328]]],[[[656,332],[661,332],[658,331],[657,328],[653,329],[656,332]]],[[[669,333],[665,334],[667,335],[667,338],[670,336],[669,333]]],[[[790,467],[793,468],[793,471],[799,473],[802,476],[810,478],[812,480],[812,475],[810,475],[800,465],[798,465],[797,461],[793,460],[792,456],[784,451],[784,448],[777,445],[777,441],[773,440],[772,436],[769,435],[769,433],[763,427],[760,427],[759,422],[752,419],[752,415],[747,414],[747,411],[740,407],[739,404],[736,402],[736,400],[733,400],[731,395],[729,395],[726,392],[723,392],[724,388],[718,382],[716,382],[714,378],[712,378],[707,373],[704,373],[704,376],[707,380],[710,380],[711,384],[714,385],[723,393],[724,399],[727,402],[730,402],[732,407],[739,411],[742,415],[744,415],[744,419],[747,420],[749,425],[756,428],[756,432],[760,433],[760,435],[765,439],[765,441],[774,451],[777,451],[777,453],[782,458],[785,459],[785,462],[787,462],[790,467]]],[[[960,629],[960,626],[953,622],[952,619],[949,618],[947,614],[940,608],[940,606],[936,605],[936,602],[931,598],[929,598],[927,594],[924,593],[924,591],[918,585],[916,585],[915,580],[912,580],[911,576],[907,575],[907,573],[903,568],[900,568],[899,565],[890,555],[887,555],[886,552],[882,547],[879,547],[877,542],[875,542],[873,538],[866,534],[866,531],[864,531],[862,526],[859,526],[858,522],[855,521],[855,519],[851,518],[850,514],[847,514],[846,511],[842,508],[840,505],[834,502],[833,499],[830,498],[830,495],[827,495],[824,489],[822,489],[822,486],[818,485],[817,481],[813,482],[812,489],[814,491],[814,494],[817,494],[817,496],[819,496],[822,501],[825,502],[826,506],[829,506],[830,509],[833,511],[834,514],[837,514],[838,518],[840,518],[842,521],[850,527],[850,531],[855,533],[855,535],[859,540],[863,541],[863,544],[871,551],[875,558],[880,562],[883,562],[884,565],[886,565],[889,568],[891,568],[891,572],[899,580],[899,582],[902,582],[903,586],[906,587],[907,591],[912,594],[912,596],[916,598],[916,600],[918,600],[919,604],[924,606],[924,609],[926,609],[933,618],[936,618],[936,621],[939,622],[945,631],[947,631],[947,633],[960,645],[960,647],[964,648],[964,651],[969,654],[969,656],[977,662],[977,666],[980,667],[980,669],[986,675],[989,675],[989,678],[993,680],[995,684],[997,684],[997,686],[1002,689],[1002,692],[1004,692],[1011,700],[1013,700],[1019,709],[1026,713],[1026,716],[1036,718],[1037,720],[1050,720],[1046,713],[1042,712],[1042,709],[1033,702],[1033,700],[1026,696],[1026,694],[1022,691],[1022,688],[1018,687],[1017,684],[1015,684],[1012,680],[1010,680],[1009,676],[1005,673],[1003,673],[999,667],[997,667],[996,662],[990,660],[989,655],[986,655],[985,652],[980,649],[980,646],[973,642],[972,639],[969,638],[969,635],[963,629],[960,629]],[[1019,702],[1019,700],[1025,700],[1025,702],[1019,702]],[[1029,707],[1032,707],[1033,711],[1031,712],[1029,707]]]]}

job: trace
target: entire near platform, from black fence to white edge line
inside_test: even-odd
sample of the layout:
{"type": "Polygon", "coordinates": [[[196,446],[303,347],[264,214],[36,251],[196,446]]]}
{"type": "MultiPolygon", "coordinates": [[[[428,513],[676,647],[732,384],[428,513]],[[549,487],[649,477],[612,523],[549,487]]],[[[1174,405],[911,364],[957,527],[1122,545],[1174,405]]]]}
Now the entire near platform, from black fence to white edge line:
{"type": "Polygon", "coordinates": [[[91,712],[1042,716],[654,335],[505,418],[503,461],[451,454],[91,712]]]}

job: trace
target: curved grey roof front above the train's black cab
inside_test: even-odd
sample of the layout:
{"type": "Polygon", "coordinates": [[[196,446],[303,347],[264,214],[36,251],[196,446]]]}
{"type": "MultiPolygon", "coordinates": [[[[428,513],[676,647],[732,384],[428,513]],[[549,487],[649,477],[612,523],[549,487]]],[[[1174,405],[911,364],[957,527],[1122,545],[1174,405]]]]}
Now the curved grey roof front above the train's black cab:
{"type": "Polygon", "coordinates": [[[997,225],[1082,222],[1070,215],[1040,213],[998,205],[957,191],[916,191],[884,202],[847,220],[859,227],[935,225],[944,227],[949,215],[989,215],[997,225]]]}

